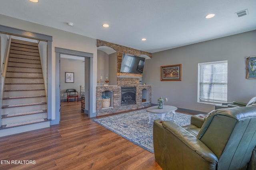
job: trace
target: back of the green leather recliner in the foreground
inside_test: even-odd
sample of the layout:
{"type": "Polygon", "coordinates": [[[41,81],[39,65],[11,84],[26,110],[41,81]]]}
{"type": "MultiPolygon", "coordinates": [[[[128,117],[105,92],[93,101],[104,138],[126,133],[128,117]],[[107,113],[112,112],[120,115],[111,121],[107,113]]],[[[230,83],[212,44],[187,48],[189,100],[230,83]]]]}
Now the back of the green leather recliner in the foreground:
{"type": "Polygon", "coordinates": [[[256,107],[212,111],[197,137],[219,159],[218,170],[246,169],[256,145],[256,107]]]}

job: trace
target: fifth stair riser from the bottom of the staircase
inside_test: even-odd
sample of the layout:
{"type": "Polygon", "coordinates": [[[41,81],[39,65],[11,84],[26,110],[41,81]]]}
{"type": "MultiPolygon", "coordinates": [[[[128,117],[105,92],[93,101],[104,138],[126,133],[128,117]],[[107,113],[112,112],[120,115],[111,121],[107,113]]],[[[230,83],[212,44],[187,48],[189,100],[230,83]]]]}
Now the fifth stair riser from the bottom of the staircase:
{"type": "Polygon", "coordinates": [[[20,96],[38,96],[45,95],[44,90],[32,90],[32,91],[18,91],[18,92],[4,92],[4,97],[20,97],[20,96]]]}

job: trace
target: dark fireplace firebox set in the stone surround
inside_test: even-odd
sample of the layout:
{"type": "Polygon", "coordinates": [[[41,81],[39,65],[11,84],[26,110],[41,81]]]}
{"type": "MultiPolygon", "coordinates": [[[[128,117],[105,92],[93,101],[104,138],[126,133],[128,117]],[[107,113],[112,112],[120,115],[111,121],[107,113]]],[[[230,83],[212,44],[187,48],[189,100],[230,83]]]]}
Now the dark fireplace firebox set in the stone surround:
{"type": "Polygon", "coordinates": [[[121,87],[121,106],[136,104],[136,87],[121,87]]]}

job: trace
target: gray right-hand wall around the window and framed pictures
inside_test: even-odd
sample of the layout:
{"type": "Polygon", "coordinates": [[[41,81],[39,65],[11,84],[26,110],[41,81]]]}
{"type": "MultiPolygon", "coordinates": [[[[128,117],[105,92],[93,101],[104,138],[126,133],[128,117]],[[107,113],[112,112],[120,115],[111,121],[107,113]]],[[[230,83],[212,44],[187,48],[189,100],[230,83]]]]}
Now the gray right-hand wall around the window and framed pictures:
{"type": "Polygon", "coordinates": [[[256,79],[246,79],[246,57],[256,56],[256,30],[152,54],[145,61],[142,82],[152,85],[152,103],[209,112],[212,104],[197,102],[198,63],[228,61],[228,101],[248,102],[256,96],[256,79]],[[160,66],[182,64],[182,81],[160,81],[160,66]]]}

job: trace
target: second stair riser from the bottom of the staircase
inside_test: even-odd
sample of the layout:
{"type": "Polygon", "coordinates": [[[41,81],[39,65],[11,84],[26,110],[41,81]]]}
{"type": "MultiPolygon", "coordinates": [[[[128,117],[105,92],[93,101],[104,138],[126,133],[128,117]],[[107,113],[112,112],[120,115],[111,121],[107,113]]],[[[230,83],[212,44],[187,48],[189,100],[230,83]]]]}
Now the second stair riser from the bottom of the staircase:
{"type": "Polygon", "coordinates": [[[47,118],[47,113],[38,113],[33,115],[23,115],[23,116],[17,116],[17,117],[8,117],[2,119],[2,125],[8,125],[11,123],[18,123],[18,122],[24,122],[24,121],[32,121],[36,119],[44,119],[47,118]]]}

